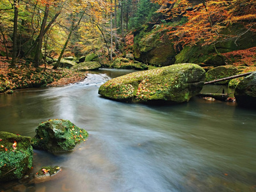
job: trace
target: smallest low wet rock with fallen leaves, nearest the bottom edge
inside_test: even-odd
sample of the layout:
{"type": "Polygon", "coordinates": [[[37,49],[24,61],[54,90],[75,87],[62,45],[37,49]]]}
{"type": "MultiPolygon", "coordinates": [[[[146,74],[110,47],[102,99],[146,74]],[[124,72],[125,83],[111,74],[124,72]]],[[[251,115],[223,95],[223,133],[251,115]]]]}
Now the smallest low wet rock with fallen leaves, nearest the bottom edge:
{"type": "Polygon", "coordinates": [[[43,166],[34,175],[34,182],[41,183],[52,180],[52,176],[61,171],[60,166],[43,166]]]}

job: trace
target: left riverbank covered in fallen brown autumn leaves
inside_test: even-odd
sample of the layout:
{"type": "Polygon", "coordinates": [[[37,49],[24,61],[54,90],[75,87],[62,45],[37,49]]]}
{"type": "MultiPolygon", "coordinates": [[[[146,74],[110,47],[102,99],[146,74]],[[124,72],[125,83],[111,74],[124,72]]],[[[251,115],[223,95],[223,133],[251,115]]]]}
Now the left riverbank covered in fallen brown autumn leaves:
{"type": "Polygon", "coordinates": [[[18,60],[15,68],[10,68],[10,60],[0,57],[0,93],[11,93],[20,88],[41,86],[64,86],[83,81],[86,75],[67,68],[53,70],[51,66],[38,68],[26,60],[18,60]]]}

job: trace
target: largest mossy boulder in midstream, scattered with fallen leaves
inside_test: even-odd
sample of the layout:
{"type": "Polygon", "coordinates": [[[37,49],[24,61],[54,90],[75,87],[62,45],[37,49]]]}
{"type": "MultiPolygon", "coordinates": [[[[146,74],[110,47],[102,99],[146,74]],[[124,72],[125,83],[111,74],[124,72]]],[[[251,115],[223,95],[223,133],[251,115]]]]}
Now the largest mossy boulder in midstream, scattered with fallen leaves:
{"type": "Polygon", "coordinates": [[[202,90],[205,70],[195,64],[179,64],[116,77],[102,84],[99,94],[125,102],[184,102],[202,90]]]}

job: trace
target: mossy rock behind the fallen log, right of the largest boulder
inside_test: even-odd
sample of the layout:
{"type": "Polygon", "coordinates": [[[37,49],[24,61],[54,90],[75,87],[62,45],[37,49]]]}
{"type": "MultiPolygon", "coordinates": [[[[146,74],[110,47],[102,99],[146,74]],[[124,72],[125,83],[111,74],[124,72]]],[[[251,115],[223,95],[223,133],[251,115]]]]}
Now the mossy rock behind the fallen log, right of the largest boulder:
{"type": "MultiPolygon", "coordinates": [[[[214,81],[216,79],[222,79],[224,77],[236,76],[242,70],[239,67],[233,65],[224,65],[219,67],[214,67],[211,70],[208,70],[206,73],[205,81],[214,81]]],[[[220,81],[216,84],[228,84],[227,81],[220,81]]]]}

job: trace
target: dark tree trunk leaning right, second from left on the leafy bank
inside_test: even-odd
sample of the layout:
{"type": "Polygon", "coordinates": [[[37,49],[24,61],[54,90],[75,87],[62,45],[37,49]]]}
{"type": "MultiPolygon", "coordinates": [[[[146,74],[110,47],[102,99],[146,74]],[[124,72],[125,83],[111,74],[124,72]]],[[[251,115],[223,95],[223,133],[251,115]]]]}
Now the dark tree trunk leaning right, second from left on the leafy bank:
{"type": "Polygon", "coordinates": [[[42,54],[41,49],[42,49],[44,31],[45,31],[45,26],[46,26],[48,15],[49,15],[49,4],[46,4],[45,5],[45,12],[44,12],[44,19],[42,21],[40,33],[38,35],[38,44],[36,46],[36,54],[35,54],[35,60],[34,60],[35,67],[39,67],[39,64],[40,64],[40,56],[42,54]]]}

